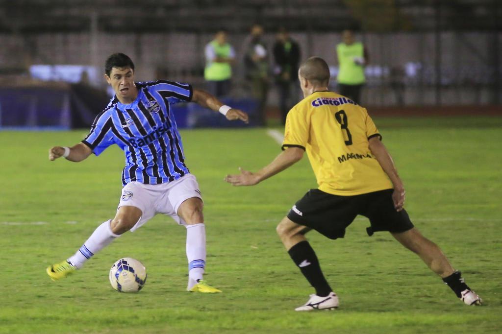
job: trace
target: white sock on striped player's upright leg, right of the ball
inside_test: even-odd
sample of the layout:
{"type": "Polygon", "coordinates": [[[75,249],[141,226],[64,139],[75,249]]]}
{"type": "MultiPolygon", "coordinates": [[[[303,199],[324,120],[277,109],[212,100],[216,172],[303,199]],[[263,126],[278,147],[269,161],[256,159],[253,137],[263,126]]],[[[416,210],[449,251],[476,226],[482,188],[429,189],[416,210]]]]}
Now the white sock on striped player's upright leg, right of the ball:
{"type": "Polygon", "coordinates": [[[202,279],[206,265],[206,227],[203,223],[187,225],[188,284],[202,279]]]}

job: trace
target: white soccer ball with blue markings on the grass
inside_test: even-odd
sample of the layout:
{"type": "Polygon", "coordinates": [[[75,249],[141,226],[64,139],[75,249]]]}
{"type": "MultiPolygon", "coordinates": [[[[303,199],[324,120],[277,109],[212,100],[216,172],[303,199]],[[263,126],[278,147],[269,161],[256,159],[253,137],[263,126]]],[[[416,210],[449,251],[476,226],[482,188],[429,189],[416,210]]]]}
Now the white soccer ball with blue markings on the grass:
{"type": "Polygon", "coordinates": [[[147,281],[147,269],[140,261],[124,257],[113,263],[109,279],[118,292],[138,292],[147,281]]]}

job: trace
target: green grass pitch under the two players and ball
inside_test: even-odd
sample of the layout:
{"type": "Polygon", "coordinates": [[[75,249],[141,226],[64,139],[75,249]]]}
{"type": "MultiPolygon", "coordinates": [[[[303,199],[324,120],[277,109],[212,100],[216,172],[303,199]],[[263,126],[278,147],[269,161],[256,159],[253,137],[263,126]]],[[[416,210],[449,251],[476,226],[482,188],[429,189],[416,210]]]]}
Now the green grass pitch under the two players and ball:
{"type": "Polygon", "coordinates": [[[185,291],[185,229],[157,216],[98,253],[69,278],[45,268],[75,252],[114,215],[122,152],[51,162],[71,132],[0,132],[0,333],[486,333],[502,331],[502,118],[376,118],[407,186],[407,210],[484,300],[461,303],[388,233],[367,237],[357,218],[346,237],[309,240],[340,297],[336,311],[298,313],[313,293],[275,226],[315,179],[305,158],[256,187],[223,182],[279,153],[265,129],[185,130],[207,224],[206,278],[218,295],[185,291]],[[120,257],[141,260],[138,294],[112,290],[120,257]]]}

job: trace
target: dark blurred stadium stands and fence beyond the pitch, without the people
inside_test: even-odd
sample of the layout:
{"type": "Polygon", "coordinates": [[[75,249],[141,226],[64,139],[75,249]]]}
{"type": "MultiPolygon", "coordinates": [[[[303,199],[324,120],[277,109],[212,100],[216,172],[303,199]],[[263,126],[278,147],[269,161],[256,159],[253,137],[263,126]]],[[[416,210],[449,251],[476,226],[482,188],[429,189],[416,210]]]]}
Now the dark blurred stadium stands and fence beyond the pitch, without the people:
{"type": "MultiPolygon", "coordinates": [[[[265,29],[269,52],[277,30],[285,27],[300,44],[302,59],[323,57],[333,75],[341,32],[353,30],[370,54],[361,100],[375,113],[502,114],[499,0],[3,0],[0,4],[0,128],[4,129],[87,127],[109,98],[104,93],[103,63],[114,52],[133,59],[139,81],[162,78],[202,88],[204,46],[221,28],[228,30],[237,54],[230,96],[244,109],[252,108],[242,75],[242,45],[255,23],[265,29]]],[[[271,72],[273,68],[271,57],[271,72]]],[[[332,85],[336,90],[336,80],[332,85]]],[[[269,122],[279,117],[273,82],[267,116],[269,122]]],[[[218,125],[186,119],[179,123],[218,125]]]]}

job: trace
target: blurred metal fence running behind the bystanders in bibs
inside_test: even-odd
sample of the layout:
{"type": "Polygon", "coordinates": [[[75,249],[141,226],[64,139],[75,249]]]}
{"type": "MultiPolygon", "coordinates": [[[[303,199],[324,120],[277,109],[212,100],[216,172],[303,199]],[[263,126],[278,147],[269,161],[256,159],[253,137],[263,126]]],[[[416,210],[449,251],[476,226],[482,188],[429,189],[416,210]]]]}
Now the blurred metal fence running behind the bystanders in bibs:
{"type": "MultiPolygon", "coordinates": [[[[292,33],[291,36],[300,44],[303,59],[314,55],[323,57],[336,78],[335,47],[341,40],[339,33],[292,33]]],[[[3,46],[0,63],[4,68],[26,71],[27,60],[13,57],[23,43],[19,38],[0,34],[3,46]]],[[[88,71],[85,80],[102,87],[105,85],[101,75],[102,63],[108,55],[124,52],[134,60],[140,80],[168,78],[203,87],[203,51],[211,38],[211,34],[196,33],[99,33],[92,42],[92,36],[85,33],[40,34],[30,38],[36,50],[30,63],[50,65],[49,68],[58,65],[94,66],[95,71],[88,71]],[[95,48],[89,47],[92,44],[96,44],[95,48]],[[92,59],[97,64],[92,64],[92,59]]],[[[241,61],[245,38],[245,34],[230,34],[230,43],[239,60],[234,67],[233,80],[233,94],[237,97],[248,91],[241,61]]],[[[366,104],[499,104],[502,101],[502,73],[497,71],[501,62],[497,44],[502,41],[502,33],[363,33],[356,34],[356,38],[365,44],[370,56],[362,96],[366,104]],[[439,43],[436,41],[438,36],[439,43]]],[[[267,34],[265,40],[270,51],[274,34],[267,34]]],[[[273,67],[271,59],[271,83],[274,80],[273,67]]],[[[80,77],[74,79],[79,81],[80,77]]],[[[332,80],[332,84],[335,83],[336,80],[332,80]]],[[[271,85],[269,104],[275,103],[276,92],[271,85]]]]}

